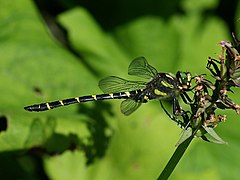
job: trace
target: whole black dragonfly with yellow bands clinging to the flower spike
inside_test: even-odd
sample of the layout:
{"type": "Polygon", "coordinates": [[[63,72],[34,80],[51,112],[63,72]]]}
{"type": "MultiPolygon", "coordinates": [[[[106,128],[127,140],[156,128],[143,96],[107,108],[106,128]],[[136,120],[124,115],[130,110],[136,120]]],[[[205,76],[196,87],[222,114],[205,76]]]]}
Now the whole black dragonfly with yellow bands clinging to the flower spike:
{"type": "Polygon", "coordinates": [[[46,111],[61,106],[88,101],[124,99],[121,102],[121,112],[128,116],[142,104],[150,100],[171,99],[173,114],[181,112],[178,97],[185,103],[191,101],[187,92],[191,90],[192,76],[189,72],[178,71],[172,73],[158,72],[148,64],[144,57],[134,59],[129,67],[128,74],[142,78],[142,81],[126,80],[117,76],[109,76],[99,81],[99,87],[104,94],[74,97],[53,102],[45,102],[24,107],[27,111],[46,111]]]}

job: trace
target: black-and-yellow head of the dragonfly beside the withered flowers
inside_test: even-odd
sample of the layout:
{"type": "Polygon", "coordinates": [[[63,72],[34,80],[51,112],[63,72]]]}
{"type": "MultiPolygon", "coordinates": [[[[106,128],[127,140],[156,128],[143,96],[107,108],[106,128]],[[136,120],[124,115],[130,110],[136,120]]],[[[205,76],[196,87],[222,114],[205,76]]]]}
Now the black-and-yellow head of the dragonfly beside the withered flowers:
{"type": "Polygon", "coordinates": [[[179,88],[181,90],[189,90],[191,88],[192,75],[190,72],[178,71],[176,78],[179,82],[179,88]]]}

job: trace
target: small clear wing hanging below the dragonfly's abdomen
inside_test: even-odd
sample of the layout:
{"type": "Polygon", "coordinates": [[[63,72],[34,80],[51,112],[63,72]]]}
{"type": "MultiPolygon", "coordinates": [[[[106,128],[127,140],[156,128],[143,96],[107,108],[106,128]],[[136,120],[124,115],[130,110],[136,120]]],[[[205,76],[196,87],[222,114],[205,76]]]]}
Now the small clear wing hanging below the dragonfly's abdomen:
{"type": "Polygon", "coordinates": [[[141,106],[142,103],[136,102],[132,99],[126,99],[121,103],[121,112],[125,115],[128,116],[132,114],[137,108],[141,106]]]}

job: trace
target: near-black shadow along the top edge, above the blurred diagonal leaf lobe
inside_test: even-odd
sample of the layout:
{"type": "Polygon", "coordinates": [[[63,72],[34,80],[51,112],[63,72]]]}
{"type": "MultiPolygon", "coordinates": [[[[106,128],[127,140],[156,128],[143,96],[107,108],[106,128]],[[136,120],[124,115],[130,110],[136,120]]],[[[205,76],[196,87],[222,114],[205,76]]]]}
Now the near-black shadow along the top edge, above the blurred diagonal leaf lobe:
{"type": "Polygon", "coordinates": [[[177,0],[34,0],[34,2],[43,17],[49,20],[50,17],[55,18],[59,13],[68,9],[84,7],[92,14],[101,27],[107,31],[141,16],[161,16],[167,20],[172,15],[183,12],[180,8],[181,1],[177,0]]]}

